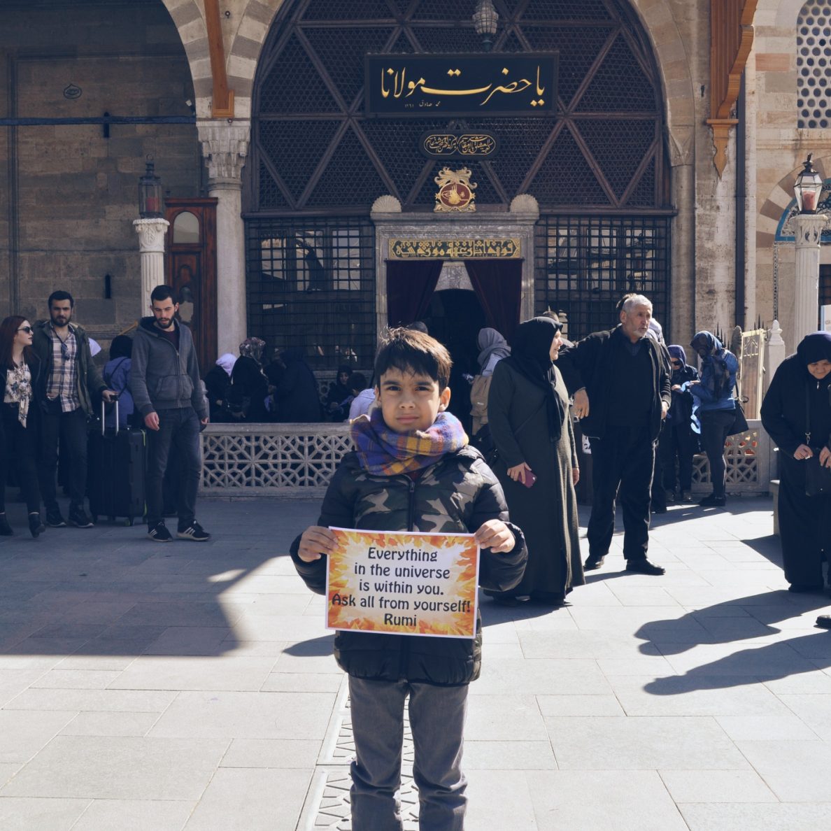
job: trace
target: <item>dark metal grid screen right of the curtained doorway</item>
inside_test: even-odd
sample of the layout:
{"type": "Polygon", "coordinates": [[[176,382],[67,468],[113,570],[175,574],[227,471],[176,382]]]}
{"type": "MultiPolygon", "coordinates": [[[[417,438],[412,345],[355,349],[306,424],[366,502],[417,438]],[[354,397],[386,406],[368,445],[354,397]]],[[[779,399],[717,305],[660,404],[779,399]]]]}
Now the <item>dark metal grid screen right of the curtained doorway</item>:
{"type": "Polygon", "coordinates": [[[564,337],[578,340],[615,326],[617,301],[637,292],[652,300],[654,317],[666,331],[670,221],[664,216],[540,219],[536,312],[560,312],[564,337]]]}

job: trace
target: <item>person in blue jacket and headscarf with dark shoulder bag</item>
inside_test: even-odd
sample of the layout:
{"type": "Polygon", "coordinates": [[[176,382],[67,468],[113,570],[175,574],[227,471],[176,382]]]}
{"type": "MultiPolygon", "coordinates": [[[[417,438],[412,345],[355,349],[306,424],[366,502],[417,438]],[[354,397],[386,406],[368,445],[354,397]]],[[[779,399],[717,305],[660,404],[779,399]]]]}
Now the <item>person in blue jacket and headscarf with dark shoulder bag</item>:
{"type": "Polygon", "coordinates": [[[701,421],[701,445],[710,461],[713,492],[701,499],[705,507],[725,504],[725,440],[735,421],[735,373],[739,369],[736,356],[721,345],[712,332],[697,332],[690,346],[701,358],[701,380],[688,387],[698,405],[701,421]]]}

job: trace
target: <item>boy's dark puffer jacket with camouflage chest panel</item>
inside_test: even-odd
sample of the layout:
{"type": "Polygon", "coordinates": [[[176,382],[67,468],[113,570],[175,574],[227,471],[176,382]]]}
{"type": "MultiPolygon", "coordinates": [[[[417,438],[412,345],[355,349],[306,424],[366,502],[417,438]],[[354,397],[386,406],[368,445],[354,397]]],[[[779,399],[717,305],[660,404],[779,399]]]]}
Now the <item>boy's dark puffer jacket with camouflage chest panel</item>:
{"type": "MultiPolygon", "coordinates": [[[[318,525],[374,531],[420,531],[472,534],[488,519],[508,522],[502,488],[479,450],[464,447],[426,468],[419,479],[375,476],[361,469],[355,453],[347,454],[323,499],[318,525]]],[[[510,523],[514,549],[504,554],[481,552],[479,585],[505,592],[522,579],[528,552],[522,531],[510,523]]],[[[326,592],[326,558],[304,563],[297,557],[300,538],[292,545],[297,573],[313,592],[326,592]]],[[[413,681],[458,686],[479,677],[482,625],[476,637],[418,637],[376,632],[337,632],[338,666],[357,678],[413,681]]]]}

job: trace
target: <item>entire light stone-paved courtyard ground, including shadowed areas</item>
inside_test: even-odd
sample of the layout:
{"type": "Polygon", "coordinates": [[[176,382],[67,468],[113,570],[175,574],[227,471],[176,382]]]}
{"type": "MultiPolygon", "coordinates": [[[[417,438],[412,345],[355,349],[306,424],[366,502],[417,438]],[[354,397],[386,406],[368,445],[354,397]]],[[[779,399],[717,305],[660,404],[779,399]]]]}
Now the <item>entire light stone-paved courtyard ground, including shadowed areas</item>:
{"type": "MultiPolygon", "coordinates": [[[[346,685],[287,556],[318,505],[206,500],[211,541],[165,546],[32,540],[10,506],[2,831],[348,831],[346,685]]],[[[785,591],[771,508],[671,506],[660,578],[627,574],[616,534],[568,607],[482,601],[468,831],[831,827],[831,601],[785,591]]]]}

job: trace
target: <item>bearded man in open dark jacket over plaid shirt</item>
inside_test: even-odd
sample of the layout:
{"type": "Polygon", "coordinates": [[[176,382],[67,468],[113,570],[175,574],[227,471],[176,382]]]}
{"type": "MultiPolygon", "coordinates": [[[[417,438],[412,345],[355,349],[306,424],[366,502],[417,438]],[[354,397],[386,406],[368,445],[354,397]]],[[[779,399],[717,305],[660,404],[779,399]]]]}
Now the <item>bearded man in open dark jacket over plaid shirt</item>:
{"type": "Polygon", "coordinates": [[[90,339],[71,323],[75,302],[69,292],[49,296],[49,320],[35,328],[32,346],[46,371],[41,374],[43,402],[41,492],[47,509],[47,525],[61,528],[66,521],[57,504],[55,475],[61,438],[68,459],[69,524],[90,528],[92,520],[84,510],[86,494],[86,420],[92,415],[92,401],[100,396],[114,401],[116,393],[106,388],[101,372],[92,362],[90,339]]]}

